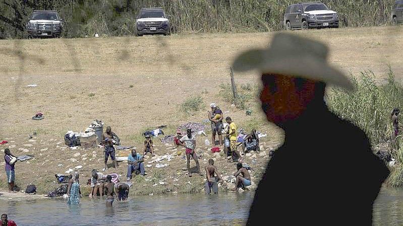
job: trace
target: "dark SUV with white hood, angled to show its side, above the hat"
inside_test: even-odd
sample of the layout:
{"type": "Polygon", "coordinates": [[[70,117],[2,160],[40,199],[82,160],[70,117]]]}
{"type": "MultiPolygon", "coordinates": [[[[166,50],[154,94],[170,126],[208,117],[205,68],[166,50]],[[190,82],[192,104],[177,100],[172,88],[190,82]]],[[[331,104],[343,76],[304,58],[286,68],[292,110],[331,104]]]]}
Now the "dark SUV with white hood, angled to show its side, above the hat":
{"type": "Polygon", "coordinates": [[[283,24],[286,30],[338,28],[338,15],[321,2],[297,3],[286,8],[283,24]]]}

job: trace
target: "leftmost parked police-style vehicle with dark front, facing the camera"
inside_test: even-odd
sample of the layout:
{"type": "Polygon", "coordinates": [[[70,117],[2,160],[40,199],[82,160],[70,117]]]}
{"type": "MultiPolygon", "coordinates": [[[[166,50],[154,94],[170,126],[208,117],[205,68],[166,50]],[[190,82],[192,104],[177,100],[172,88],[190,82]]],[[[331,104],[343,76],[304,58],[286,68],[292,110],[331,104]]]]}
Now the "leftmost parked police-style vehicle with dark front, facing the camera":
{"type": "Polygon", "coordinates": [[[28,18],[29,37],[60,37],[63,31],[63,19],[56,11],[34,10],[28,18]]]}

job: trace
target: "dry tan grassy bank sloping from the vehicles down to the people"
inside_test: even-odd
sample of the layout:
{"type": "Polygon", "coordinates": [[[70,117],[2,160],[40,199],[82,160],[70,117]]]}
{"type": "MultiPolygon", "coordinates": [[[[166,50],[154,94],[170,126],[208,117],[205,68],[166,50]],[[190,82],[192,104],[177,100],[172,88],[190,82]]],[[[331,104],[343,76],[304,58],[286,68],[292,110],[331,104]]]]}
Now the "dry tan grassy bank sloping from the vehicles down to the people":
{"type": "MultiPolygon", "coordinates": [[[[387,77],[387,65],[390,64],[395,78],[401,79],[403,62],[399,40],[403,36],[403,26],[292,32],[327,43],[330,63],[345,72],[359,74],[371,69],[377,76],[375,79],[381,80],[387,77]]],[[[70,150],[61,148],[65,146],[64,142],[57,144],[68,130],[84,131],[94,119],[104,121],[105,126],[110,125],[122,138],[123,145],[140,147],[141,133],[145,129],[168,125],[167,133],[173,133],[183,123],[206,119],[208,104],[215,102],[223,112],[228,111],[224,116],[231,116],[237,124],[267,132],[265,148],[281,144],[282,131],[265,122],[258,104],[254,103],[256,97],[249,99],[252,116],[246,116],[245,110],[231,106],[219,94],[220,85],[230,83],[229,65],[236,54],[248,48],[267,46],[273,34],[1,40],[0,139],[15,141],[9,143],[15,145],[11,148],[15,155],[26,154],[19,150],[26,148],[27,154],[36,156],[29,164],[18,164],[17,183],[23,187],[31,182],[41,184],[40,191],[47,192],[53,187],[56,173],[83,165],[80,170],[83,184],[91,169],[102,169],[100,148],[70,150]],[[38,62],[39,58],[43,63],[38,62]],[[38,86],[27,87],[34,83],[38,86]],[[194,97],[200,97],[196,100],[202,101],[194,108],[199,110],[183,111],[184,106],[189,106],[184,105],[189,99],[191,108],[195,107],[194,97]],[[45,119],[32,120],[38,111],[45,119]],[[28,141],[28,135],[33,132],[37,133],[33,138],[35,141],[28,141]],[[81,156],[87,154],[87,159],[79,157],[75,158],[78,161],[72,162],[73,155],[78,152],[81,156]],[[92,152],[96,153],[95,157],[92,152]],[[63,166],[59,167],[60,164],[63,166]]],[[[259,84],[259,75],[256,71],[236,73],[235,80],[259,84]]],[[[198,138],[200,147],[206,138],[210,139],[198,138]]],[[[168,148],[159,147],[157,154],[169,153],[168,148]]],[[[207,155],[206,148],[200,152],[207,155]]],[[[259,167],[263,167],[267,159],[259,161],[259,167]]],[[[232,164],[224,161],[218,164],[219,169],[221,167],[229,174],[235,171],[232,164]]],[[[175,164],[170,165],[165,170],[166,177],[186,167],[186,161],[176,158],[175,164]]],[[[204,165],[205,162],[201,162],[201,166],[204,165]]],[[[108,172],[126,175],[126,165],[121,164],[118,170],[108,172]]],[[[4,179],[5,172],[0,171],[3,188],[6,187],[4,179]]],[[[195,183],[203,181],[195,177],[192,180],[198,181],[195,183]]],[[[188,181],[180,183],[182,189],[179,191],[192,190],[185,187],[188,181]]]]}

